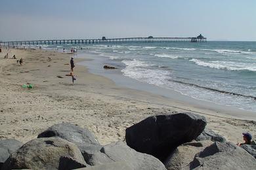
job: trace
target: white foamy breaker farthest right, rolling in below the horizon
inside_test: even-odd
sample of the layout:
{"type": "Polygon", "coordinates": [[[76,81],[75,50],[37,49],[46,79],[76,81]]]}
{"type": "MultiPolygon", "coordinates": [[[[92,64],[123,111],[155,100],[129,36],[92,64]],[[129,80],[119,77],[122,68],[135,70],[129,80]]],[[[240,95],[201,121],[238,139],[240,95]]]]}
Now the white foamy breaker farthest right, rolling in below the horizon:
{"type": "Polygon", "coordinates": [[[197,65],[210,67],[213,69],[225,69],[230,71],[256,71],[256,63],[236,63],[232,61],[202,61],[200,59],[190,59],[197,65]]]}

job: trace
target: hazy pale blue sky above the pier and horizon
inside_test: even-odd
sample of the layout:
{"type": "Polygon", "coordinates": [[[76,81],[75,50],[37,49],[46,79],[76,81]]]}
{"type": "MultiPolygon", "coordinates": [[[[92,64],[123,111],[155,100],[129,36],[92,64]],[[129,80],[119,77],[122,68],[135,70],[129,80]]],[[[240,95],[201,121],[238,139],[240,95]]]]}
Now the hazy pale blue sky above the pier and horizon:
{"type": "Polygon", "coordinates": [[[255,0],[0,0],[0,41],[195,37],[256,41],[255,0]]]}

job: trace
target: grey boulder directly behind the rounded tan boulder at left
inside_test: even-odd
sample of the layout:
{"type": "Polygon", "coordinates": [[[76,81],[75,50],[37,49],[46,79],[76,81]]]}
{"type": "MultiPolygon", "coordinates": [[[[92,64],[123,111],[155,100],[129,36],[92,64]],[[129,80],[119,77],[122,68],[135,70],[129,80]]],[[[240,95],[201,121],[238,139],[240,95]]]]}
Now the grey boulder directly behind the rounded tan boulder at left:
{"type": "Polygon", "coordinates": [[[70,123],[55,124],[40,133],[37,137],[60,137],[66,139],[76,144],[81,152],[87,148],[90,150],[91,148],[102,147],[89,129],[81,128],[70,123]]]}

